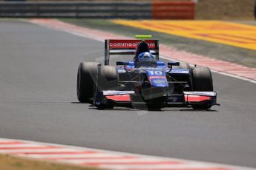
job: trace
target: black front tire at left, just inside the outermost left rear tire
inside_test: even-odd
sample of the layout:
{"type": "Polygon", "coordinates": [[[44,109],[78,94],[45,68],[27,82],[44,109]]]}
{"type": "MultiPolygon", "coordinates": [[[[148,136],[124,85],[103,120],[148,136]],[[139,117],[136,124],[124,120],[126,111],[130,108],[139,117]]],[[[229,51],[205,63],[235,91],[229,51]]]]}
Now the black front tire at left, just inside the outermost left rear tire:
{"type": "MultiPolygon", "coordinates": [[[[113,66],[101,66],[98,73],[97,89],[102,90],[114,90],[118,87],[118,72],[116,67],[113,66]]],[[[108,103],[99,103],[96,105],[98,109],[112,109],[114,103],[108,101],[108,103]]]]}

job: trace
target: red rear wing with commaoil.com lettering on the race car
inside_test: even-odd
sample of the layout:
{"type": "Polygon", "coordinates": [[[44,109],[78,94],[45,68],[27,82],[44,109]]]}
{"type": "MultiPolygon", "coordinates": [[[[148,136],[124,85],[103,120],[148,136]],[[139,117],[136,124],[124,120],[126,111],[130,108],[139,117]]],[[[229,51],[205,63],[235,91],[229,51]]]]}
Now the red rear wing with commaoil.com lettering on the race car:
{"type": "MultiPolygon", "coordinates": [[[[105,65],[109,64],[110,55],[135,55],[137,45],[141,40],[105,40],[105,65]]],[[[158,40],[145,40],[148,43],[150,52],[159,61],[159,44],[158,40]]]]}

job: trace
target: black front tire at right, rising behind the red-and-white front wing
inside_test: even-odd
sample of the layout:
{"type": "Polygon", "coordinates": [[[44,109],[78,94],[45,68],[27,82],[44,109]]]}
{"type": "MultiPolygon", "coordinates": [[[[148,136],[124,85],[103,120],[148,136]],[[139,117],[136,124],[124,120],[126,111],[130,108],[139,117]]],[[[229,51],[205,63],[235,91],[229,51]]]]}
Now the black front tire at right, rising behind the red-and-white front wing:
{"type": "MultiPolygon", "coordinates": [[[[194,67],[192,82],[193,82],[193,91],[197,91],[197,92],[213,91],[211,70],[209,69],[209,67],[194,67]]],[[[192,105],[192,108],[193,109],[209,109],[211,108],[211,103],[192,105]]]]}

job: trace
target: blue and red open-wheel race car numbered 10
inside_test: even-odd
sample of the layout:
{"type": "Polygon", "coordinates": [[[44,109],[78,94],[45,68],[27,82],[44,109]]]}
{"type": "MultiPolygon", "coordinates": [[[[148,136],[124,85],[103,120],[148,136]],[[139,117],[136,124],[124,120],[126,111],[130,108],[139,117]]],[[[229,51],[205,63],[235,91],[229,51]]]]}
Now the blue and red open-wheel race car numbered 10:
{"type": "Polygon", "coordinates": [[[105,40],[105,64],[82,62],[77,74],[77,98],[98,109],[114,106],[160,109],[191,106],[210,109],[216,101],[211,70],[177,61],[159,60],[159,41],[151,35],[131,40],[105,40]],[[116,61],[111,55],[135,55],[131,61],[116,61]]]}

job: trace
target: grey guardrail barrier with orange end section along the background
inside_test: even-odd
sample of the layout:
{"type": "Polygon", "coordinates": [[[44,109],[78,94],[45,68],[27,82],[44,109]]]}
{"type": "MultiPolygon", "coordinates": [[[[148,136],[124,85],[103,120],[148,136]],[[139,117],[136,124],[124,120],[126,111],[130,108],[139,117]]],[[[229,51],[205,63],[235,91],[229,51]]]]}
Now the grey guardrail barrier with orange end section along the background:
{"type": "Polygon", "coordinates": [[[185,1],[0,1],[0,17],[193,19],[194,3],[185,1]]]}

